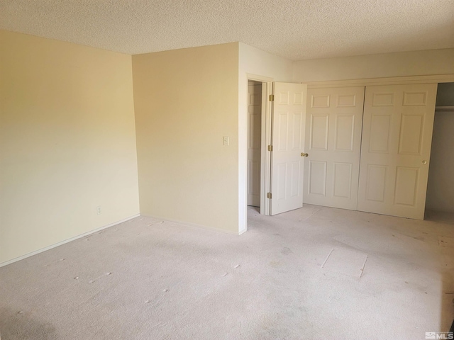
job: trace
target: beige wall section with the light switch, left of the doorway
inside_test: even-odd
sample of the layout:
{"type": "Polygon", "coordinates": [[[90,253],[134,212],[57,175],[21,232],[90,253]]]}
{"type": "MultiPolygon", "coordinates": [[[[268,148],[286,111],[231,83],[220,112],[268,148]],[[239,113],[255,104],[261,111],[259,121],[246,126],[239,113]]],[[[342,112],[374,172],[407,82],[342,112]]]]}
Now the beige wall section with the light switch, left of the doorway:
{"type": "Polygon", "coordinates": [[[140,213],[238,233],[238,43],[134,55],[133,86],[140,213]]]}

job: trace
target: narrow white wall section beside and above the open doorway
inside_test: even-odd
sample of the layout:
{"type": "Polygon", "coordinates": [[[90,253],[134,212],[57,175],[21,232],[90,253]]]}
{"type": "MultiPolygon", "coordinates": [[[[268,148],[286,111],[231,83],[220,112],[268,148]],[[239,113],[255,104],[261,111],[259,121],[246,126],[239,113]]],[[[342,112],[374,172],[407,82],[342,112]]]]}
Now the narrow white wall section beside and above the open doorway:
{"type": "Polygon", "coordinates": [[[239,43],[238,64],[238,226],[244,232],[248,219],[248,74],[272,81],[292,82],[293,63],[282,57],[239,43]]]}

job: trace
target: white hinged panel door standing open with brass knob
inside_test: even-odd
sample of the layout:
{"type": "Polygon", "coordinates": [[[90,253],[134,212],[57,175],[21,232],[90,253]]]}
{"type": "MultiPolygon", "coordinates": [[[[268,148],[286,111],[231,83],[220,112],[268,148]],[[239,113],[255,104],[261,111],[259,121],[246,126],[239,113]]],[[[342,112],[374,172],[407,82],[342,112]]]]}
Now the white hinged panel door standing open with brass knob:
{"type": "Polygon", "coordinates": [[[306,92],[304,84],[273,84],[270,215],[303,206],[306,92]]]}

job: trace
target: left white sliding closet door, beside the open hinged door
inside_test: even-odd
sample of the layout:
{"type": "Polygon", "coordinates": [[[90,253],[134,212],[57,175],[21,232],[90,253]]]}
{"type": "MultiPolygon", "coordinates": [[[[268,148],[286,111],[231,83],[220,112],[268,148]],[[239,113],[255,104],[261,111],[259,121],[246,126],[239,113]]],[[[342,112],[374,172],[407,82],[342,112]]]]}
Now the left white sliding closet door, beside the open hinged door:
{"type": "Polygon", "coordinates": [[[307,94],[304,203],[356,210],[364,86],[307,94]]]}

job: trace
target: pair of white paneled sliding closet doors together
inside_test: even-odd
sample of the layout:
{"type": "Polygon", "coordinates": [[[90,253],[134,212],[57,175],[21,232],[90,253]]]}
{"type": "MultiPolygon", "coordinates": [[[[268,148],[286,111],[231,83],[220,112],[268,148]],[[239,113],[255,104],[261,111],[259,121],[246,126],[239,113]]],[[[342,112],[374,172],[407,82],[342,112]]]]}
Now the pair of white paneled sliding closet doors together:
{"type": "Polygon", "coordinates": [[[423,219],[436,86],[309,89],[304,203],[423,219]]]}

